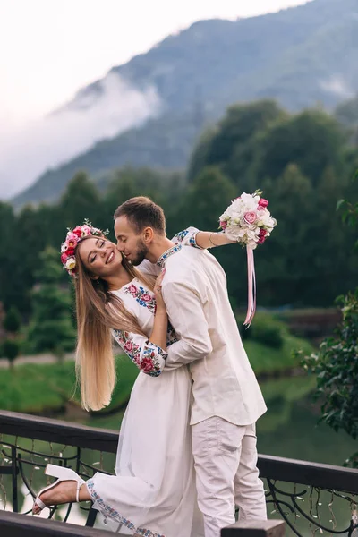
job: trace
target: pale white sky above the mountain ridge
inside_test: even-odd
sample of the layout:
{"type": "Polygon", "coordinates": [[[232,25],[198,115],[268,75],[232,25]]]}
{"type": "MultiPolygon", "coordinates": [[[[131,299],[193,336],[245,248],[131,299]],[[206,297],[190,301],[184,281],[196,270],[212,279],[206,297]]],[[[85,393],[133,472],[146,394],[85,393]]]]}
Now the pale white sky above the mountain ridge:
{"type": "MultiPolygon", "coordinates": [[[[81,87],[104,77],[111,67],[146,52],[194,21],[235,20],[306,1],[0,0],[0,143],[7,151],[2,157],[0,148],[0,198],[4,197],[1,185],[4,191],[4,182],[9,181],[7,168],[13,166],[14,148],[21,148],[30,130],[38,128],[41,118],[70,100],[81,87]]],[[[145,103],[148,98],[152,104],[156,97],[144,96],[145,103]]],[[[136,106],[141,113],[136,115],[136,121],[147,114],[140,101],[137,96],[136,106]]],[[[99,131],[112,134],[111,129],[108,134],[107,127],[104,132],[99,131]]],[[[40,136],[38,132],[37,140],[40,136]]],[[[90,139],[84,141],[79,149],[85,149],[89,143],[90,139]]],[[[30,175],[37,174],[41,166],[55,165],[61,158],[68,158],[64,153],[60,151],[58,157],[51,157],[34,169],[30,166],[24,182],[29,183],[30,175]]],[[[37,157],[28,158],[35,161],[37,157]]]]}

